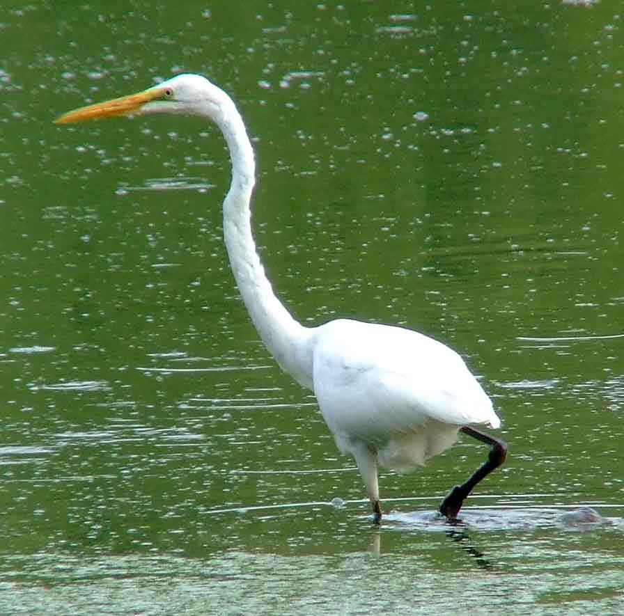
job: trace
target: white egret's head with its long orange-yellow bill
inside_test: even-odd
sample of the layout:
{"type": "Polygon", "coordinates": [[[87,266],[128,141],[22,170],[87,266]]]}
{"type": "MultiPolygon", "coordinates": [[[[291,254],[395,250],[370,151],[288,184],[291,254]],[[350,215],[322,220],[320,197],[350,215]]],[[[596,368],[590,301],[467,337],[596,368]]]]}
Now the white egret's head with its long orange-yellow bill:
{"type": "Polygon", "coordinates": [[[70,124],[151,113],[185,113],[205,116],[219,123],[230,98],[223,90],[196,74],[180,74],[136,94],[74,109],[56,118],[56,124],[70,124]]]}

